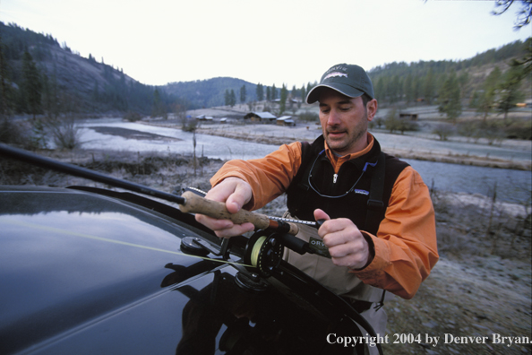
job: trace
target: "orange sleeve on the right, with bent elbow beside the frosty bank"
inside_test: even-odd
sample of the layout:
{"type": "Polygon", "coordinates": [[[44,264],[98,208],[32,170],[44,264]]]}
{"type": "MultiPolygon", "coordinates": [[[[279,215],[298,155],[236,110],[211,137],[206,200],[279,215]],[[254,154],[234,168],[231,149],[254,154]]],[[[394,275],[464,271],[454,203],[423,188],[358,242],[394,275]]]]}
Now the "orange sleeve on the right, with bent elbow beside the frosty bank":
{"type": "Polygon", "coordinates": [[[433,203],[415,169],[408,167],[399,174],[377,236],[363,233],[373,242],[374,257],[353,273],[403,299],[414,297],[439,258],[433,203]]]}

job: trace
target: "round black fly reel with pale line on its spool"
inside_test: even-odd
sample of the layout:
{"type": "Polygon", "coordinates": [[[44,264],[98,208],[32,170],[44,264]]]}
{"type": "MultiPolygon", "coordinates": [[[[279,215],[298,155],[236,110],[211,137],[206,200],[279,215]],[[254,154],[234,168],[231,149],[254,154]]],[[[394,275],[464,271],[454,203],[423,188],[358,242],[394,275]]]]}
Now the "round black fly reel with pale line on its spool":
{"type": "Polygon", "coordinates": [[[257,268],[262,276],[270,276],[283,257],[283,246],[279,235],[265,235],[263,230],[253,234],[245,247],[245,264],[257,268]]]}

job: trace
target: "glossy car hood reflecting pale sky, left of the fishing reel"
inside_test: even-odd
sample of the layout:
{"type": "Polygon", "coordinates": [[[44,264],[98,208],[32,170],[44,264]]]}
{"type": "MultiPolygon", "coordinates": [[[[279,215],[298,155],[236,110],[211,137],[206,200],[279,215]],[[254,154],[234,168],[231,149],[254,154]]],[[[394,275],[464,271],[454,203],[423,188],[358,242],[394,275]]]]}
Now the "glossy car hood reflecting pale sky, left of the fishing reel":
{"type": "Polygon", "coordinates": [[[181,281],[167,264],[202,262],[180,250],[190,228],[131,203],[21,186],[0,201],[0,332],[15,349],[165,292],[181,281]]]}

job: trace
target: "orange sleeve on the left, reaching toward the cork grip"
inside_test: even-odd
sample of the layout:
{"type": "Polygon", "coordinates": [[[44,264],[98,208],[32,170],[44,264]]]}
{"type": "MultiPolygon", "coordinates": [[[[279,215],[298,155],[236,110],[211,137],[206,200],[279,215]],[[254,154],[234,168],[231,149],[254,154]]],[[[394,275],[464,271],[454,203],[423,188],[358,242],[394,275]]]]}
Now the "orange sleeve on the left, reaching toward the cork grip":
{"type": "Polygon", "coordinates": [[[240,177],[252,186],[253,198],[244,208],[257,210],[284,193],[301,166],[301,143],[284,144],[266,157],[254,160],[229,160],[210,178],[218,185],[226,177],[240,177]]]}

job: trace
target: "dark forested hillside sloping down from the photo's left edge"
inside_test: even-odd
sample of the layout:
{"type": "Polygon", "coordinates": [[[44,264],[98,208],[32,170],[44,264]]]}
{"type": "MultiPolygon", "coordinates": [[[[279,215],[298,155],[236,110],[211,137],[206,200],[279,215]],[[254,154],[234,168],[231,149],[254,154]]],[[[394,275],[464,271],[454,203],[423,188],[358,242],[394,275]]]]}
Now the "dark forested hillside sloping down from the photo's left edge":
{"type": "MultiPolygon", "coordinates": [[[[156,88],[84,58],[51,35],[0,22],[5,112],[40,114],[138,111],[149,114],[156,88]],[[38,102],[39,101],[39,102],[38,102]]],[[[174,98],[161,93],[166,104],[174,98]]]]}

